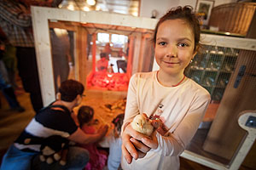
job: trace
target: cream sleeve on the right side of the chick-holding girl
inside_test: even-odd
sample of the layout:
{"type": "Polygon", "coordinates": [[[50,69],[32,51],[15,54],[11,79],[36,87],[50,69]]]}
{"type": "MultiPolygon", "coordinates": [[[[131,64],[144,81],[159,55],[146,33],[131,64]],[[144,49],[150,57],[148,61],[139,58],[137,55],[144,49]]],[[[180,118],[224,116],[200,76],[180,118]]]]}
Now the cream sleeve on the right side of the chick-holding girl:
{"type": "Polygon", "coordinates": [[[159,146],[152,151],[159,152],[163,156],[179,156],[195,135],[209,102],[209,94],[196,99],[188,113],[183,117],[183,121],[173,132],[166,133],[165,136],[157,133],[159,146]]]}

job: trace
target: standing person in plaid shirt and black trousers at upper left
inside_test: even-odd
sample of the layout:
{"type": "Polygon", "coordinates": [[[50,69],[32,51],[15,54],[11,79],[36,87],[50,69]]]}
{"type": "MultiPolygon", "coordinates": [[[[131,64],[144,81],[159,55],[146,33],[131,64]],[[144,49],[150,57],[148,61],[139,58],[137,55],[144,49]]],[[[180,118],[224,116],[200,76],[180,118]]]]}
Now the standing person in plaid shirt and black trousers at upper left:
{"type": "Polygon", "coordinates": [[[38,112],[43,107],[43,101],[29,7],[18,0],[0,0],[0,23],[9,42],[16,48],[23,88],[30,94],[34,111],[38,112]]]}

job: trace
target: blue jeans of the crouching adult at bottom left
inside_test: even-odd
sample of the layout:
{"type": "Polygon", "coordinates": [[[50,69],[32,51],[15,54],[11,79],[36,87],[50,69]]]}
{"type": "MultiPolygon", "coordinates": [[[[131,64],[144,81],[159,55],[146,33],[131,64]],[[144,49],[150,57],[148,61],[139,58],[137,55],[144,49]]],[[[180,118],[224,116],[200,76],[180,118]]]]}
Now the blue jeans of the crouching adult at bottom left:
{"type": "Polygon", "coordinates": [[[59,162],[47,164],[45,161],[40,161],[38,153],[21,151],[12,145],[3,157],[1,170],[81,170],[85,167],[88,161],[89,152],[81,147],[69,147],[67,152],[67,164],[61,166],[59,162]]]}

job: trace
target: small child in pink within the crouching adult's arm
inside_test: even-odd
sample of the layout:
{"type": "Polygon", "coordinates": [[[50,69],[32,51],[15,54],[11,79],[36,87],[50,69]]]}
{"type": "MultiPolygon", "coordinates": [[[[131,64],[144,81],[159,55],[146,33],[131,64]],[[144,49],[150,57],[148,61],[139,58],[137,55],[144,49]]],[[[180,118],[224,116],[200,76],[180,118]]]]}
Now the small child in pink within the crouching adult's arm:
{"type": "MultiPolygon", "coordinates": [[[[87,134],[95,134],[96,128],[93,126],[96,124],[96,120],[93,119],[94,110],[87,105],[83,105],[79,108],[78,119],[79,126],[87,134]]],[[[85,166],[86,170],[102,170],[107,161],[107,154],[102,153],[97,149],[96,143],[92,144],[80,144],[84,149],[90,153],[90,160],[85,166]]]]}

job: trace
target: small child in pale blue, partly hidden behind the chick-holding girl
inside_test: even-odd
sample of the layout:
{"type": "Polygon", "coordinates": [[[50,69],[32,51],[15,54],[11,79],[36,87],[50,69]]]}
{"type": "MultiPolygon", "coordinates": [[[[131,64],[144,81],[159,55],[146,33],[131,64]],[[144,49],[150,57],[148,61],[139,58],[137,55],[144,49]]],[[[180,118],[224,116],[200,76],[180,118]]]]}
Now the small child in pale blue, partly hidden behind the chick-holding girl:
{"type": "Polygon", "coordinates": [[[99,144],[109,148],[108,170],[117,170],[120,166],[122,156],[122,139],[120,136],[125,114],[119,114],[113,119],[113,132],[109,133],[99,144]]]}

